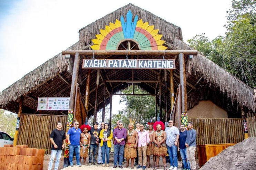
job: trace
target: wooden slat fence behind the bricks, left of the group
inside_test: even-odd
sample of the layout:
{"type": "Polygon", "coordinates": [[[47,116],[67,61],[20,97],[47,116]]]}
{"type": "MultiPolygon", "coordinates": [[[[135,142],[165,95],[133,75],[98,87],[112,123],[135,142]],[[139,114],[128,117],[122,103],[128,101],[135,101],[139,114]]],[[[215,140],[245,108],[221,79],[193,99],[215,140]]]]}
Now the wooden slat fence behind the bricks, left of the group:
{"type": "Polygon", "coordinates": [[[64,115],[21,114],[18,145],[46,149],[45,154],[50,154],[49,135],[58,121],[62,122],[62,130],[66,131],[67,118],[64,115]]]}

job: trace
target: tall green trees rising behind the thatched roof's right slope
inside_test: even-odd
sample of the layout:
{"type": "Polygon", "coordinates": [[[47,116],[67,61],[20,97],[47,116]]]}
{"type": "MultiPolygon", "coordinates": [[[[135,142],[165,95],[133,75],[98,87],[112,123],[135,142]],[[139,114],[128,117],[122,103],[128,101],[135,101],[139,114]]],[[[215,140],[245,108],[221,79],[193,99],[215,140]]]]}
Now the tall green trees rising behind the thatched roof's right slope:
{"type": "Polygon", "coordinates": [[[256,86],[255,4],[254,0],[232,1],[232,9],[227,11],[225,37],[209,41],[201,34],[187,41],[250,87],[256,86]]]}

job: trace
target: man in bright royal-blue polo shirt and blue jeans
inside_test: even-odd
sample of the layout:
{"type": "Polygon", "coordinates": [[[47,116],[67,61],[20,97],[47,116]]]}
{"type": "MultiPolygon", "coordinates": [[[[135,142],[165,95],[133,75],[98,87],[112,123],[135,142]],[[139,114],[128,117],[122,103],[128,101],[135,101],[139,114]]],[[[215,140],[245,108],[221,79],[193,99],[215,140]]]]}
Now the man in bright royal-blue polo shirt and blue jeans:
{"type": "Polygon", "coordinates": [[[79,161],[81,129],[78,128],[78,126],[79,126],[78,121],[74,121],[73,125],[74,126],[72,128],[70,128],[67,133],[67,139],[68,139],[68,145],[69,145],[69,163],[70,163],[70,166],[73,167],[73,155],[74,155],[74,150],[75,150],[76,151],[76,159],[77,159],[76,166],[81,167],[81,163],[79,161]]]}

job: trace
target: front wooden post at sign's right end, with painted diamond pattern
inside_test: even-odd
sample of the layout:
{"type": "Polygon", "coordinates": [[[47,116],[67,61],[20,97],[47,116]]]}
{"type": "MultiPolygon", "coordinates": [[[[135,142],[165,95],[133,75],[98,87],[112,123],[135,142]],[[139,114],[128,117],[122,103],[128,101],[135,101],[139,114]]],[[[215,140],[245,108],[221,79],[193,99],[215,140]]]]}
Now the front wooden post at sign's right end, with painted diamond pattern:
{"type": "Polygon", "coordinates": [[[181,84],[181,123],[187,129],[188,115],[187,115],[187,86],[186,86],[186,69],[184,54],[179,54],[179,74],[181,84]]]}

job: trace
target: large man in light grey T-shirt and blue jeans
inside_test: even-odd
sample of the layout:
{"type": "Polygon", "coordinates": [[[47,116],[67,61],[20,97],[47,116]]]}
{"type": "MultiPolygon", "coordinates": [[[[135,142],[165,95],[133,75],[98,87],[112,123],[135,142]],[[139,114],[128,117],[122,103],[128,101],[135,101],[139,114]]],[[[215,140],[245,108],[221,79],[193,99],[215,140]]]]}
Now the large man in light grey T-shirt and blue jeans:
{"type": "Polygon", "coordinates": [[[168,126],[165,129],[166,132],[166,145],[170,159],[170,168],[169,170],[178,169],[178,156],[177,156],[177,146],[179,139],[179,130],[177,127],[173,126],[173,120],[168,121],[168,126]]]}

